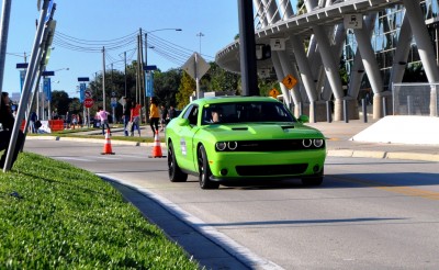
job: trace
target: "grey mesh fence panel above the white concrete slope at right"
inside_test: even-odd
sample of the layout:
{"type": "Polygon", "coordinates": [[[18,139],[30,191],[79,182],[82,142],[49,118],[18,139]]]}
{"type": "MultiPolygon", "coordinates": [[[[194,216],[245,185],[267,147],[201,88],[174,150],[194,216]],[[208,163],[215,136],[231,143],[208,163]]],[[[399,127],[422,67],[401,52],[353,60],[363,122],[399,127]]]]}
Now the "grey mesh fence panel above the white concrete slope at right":
{"type": "Polygon", "coordinates": [[[394,83],[393,115],[438,116],[439,83],[394,83]]]}

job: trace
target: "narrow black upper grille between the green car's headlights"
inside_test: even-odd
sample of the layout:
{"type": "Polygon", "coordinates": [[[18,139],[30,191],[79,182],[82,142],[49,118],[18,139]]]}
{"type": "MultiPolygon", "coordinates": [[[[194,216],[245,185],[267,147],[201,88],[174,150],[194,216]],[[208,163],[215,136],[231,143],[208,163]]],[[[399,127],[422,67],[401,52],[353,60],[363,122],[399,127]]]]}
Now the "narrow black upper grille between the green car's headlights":
{"type": "Polygon", "coordinates": [[[325,148],[325,143],[317,148],[303,146],[303,139],[239,140],[234,151],[289,151],[325,148]]]}

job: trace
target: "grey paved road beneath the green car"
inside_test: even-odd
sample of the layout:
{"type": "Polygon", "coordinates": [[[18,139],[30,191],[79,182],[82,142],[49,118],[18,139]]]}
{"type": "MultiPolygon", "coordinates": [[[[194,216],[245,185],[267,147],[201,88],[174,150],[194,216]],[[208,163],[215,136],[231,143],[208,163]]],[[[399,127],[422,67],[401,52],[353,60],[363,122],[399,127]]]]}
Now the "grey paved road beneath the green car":
{"type": "MultiPolygon", "coordinates": [[[[148,192],[249,268],[439,268],[437,162],[328,157],[318,188],[289,180],[201,190],[194,177],[169,182],[166,158],[148,158],[150,147],[117,145],[115,155],[101,155],[100,144],[26,140],[25,150],[148,192]]],[[[217,256],[192,246],[201,261],[217,256]]]]}

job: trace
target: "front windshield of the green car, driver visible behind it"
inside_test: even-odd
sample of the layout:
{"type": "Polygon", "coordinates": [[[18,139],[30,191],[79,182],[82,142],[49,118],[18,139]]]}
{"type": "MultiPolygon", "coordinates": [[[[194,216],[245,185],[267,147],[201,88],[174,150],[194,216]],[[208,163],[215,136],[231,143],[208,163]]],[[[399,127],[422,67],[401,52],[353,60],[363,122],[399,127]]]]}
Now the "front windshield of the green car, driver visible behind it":
{"type": "Polygon", "coordinates": [[[230,102],[204,105],[202,124],[296,122],[282,103],[230,102]]]}

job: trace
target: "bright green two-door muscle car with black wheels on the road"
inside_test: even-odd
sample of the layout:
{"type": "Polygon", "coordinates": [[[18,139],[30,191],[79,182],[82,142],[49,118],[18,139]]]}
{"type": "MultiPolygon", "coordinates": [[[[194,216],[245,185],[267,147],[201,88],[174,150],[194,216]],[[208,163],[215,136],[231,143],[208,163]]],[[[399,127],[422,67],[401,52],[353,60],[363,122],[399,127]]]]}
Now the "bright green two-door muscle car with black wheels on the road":
{"type": "Polygon", "coordinates": [[[172,182],[199,177],[202,189],[241,179],[301,178],[319,185],[324,177],[324,135],[268,97],[199,99],[166,128],[172,182]]]}

